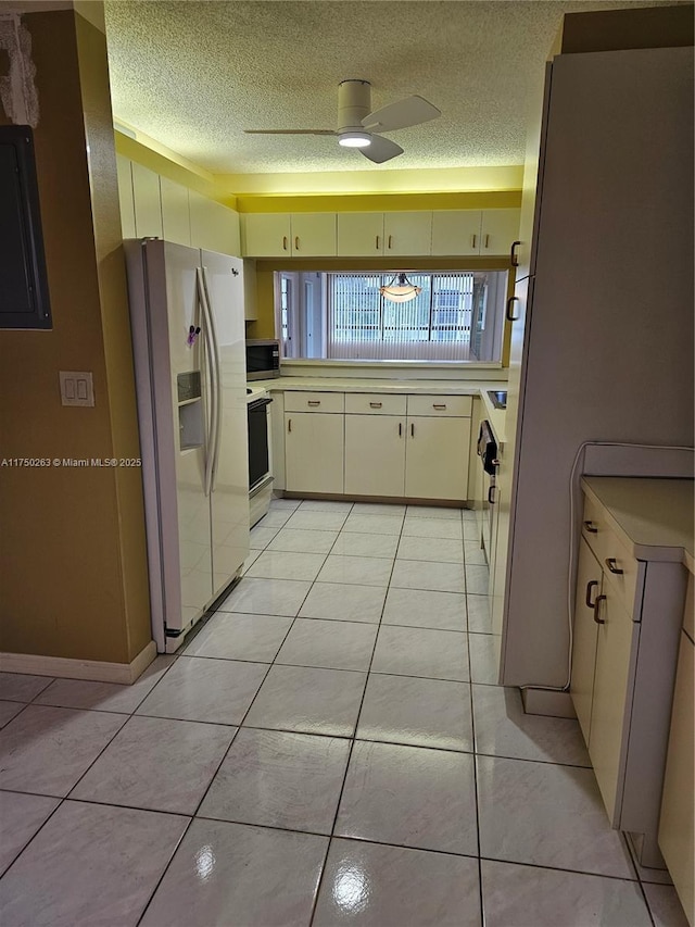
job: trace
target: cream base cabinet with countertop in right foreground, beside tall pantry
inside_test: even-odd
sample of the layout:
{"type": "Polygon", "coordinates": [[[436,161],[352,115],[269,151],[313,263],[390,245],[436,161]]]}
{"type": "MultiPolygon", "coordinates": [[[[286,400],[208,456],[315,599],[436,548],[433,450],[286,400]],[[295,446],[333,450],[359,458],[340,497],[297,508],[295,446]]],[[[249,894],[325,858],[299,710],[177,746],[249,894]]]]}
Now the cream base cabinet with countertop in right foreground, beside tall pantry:
{"type": "Polygon", "coordinates": [[[570,693],[610,823],[642,835],[655,865],[693,481],[584,477],[582,489],[570,693]]]}

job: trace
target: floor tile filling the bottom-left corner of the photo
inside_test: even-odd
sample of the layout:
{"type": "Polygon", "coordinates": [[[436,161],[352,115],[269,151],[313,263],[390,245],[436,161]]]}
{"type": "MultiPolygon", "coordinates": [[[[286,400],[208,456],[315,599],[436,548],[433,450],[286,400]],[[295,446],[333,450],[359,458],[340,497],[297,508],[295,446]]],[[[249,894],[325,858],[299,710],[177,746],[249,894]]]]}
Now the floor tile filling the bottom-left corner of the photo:
{"type": "Polygon", "coordinates": [[[63,802],[0,881],[0,923],[136,925],[187,824],[180,815],[63,802]]]}

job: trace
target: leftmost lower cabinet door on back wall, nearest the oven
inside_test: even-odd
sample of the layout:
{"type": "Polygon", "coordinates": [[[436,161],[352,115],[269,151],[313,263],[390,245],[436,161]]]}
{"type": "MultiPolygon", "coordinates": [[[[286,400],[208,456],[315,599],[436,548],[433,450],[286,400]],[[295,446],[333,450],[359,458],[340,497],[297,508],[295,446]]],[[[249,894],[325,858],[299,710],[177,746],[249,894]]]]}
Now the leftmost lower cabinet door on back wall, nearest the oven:
{"type": "Polygon", "coordinates": [[[342,493],[343,417],[285,413],[285,488],[289,492],[342,493]]]}

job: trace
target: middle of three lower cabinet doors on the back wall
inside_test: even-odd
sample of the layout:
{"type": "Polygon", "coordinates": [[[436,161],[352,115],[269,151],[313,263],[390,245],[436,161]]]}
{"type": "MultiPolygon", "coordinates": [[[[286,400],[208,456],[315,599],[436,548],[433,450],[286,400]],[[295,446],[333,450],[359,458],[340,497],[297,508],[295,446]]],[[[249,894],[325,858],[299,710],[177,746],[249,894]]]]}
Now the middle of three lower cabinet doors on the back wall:
{"type": "Polygon", "coordinates": [[[403,496],[405,417],[345,415],[345,492],[403,496]]]}

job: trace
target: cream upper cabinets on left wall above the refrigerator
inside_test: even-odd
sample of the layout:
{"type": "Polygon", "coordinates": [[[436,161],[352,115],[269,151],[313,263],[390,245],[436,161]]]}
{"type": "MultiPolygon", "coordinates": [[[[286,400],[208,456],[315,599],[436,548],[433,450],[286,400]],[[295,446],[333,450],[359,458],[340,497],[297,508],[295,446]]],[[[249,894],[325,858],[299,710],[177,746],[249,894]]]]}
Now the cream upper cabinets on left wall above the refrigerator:
{"type": "Polygon", "coordinates": [[[122,155],[116,166],[124,238],[163,238],[220,254],[241,254],[235,210],[122,155]]]}

